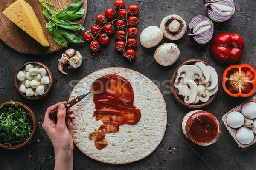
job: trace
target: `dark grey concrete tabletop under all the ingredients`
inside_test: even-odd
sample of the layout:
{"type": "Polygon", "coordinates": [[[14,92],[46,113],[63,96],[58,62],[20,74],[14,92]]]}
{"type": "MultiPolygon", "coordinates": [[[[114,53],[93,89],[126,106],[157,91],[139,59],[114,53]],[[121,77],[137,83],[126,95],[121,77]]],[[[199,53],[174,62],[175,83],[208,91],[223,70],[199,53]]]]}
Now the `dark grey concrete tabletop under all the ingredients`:
{"type": "MultiPolygon", "coordinates": [[[[112,7],[114,0],[87,0],[87,17],[84,23],[86,29],[90,29],[94,23],[93,17],[97,14],[104,14],[105,9],[112,7]]],[[[140,33],[147,26],[159,26],[161,20],[170,14],[177,14],[183,17],[188,23],[189,19],[195,15],[203,14],[207,16],[207,8],[202,0],[125,0],[126,7],[131,4],[137,4],[140,7],[138,14],[139,24],[137,26],[139,34],[136,39],[139,42],[140,33]]],[[[238,64],[248,63],[256,68],[256,48],[255,48],[255,32],[256,32],[256,11],[253,0],[235,0],[236,13],[234,16],[224,23],[215,25],[214,34],[221,32],[238,33],[245,41],[244,55],[238,64]]],[[[83,31],[80,32],[80,36],[83,31]]],[[[4,34],[4,33],[0,33],[4,34]]],[[[159,46],[154,48],[144,48],[138,43],[136,49],[137,57],[130,63],[122,57],[122,54],[117,52],[113,45],[115,37],[111,36],[111,42],[104,45],[99,51],[98,57],[90,58],[88,45],[70,44],[69,48],[74,48],[80,51],[83,57],[87,60],[78,69],[69,70],[67,75],[61,74],[57,68],[57,59],[65,49],[58,53],[45,56],[33,56],[20,54],[3,42],[0,41],[0,103],[10,100],[17,100],[29,105],[36,113],[38,126],[35,137],[32,142],[25,148],[18,150],[6,150],[0,148],[0,170],[48,170],[53,169],[54,160],[50,156],[54,156],[54,150],[49,137],[41,127],[44,120],[44,113],[47,107],[56,102],[66,101],[73,87],[83,77],[106,67],[125,67],[130,68],[144,74],[158,85],[160,90],[163,90],[163,96],[166,102],[168,111],[168,124],[163,141],[157,149],[145,159],[123,165],[108,165],[99,163],[90,159],[80,152],[75,146],[73,153],[73,167],[75,170],[253,170],[256,169],[256,144],[241,149],[233,140],[230,133],[227,131],[224,123],[221,121],[222,116],[236,105],[244,102],[248,98],[233,98],[226,94],[220,85],[220,91],[214,101],[203,108],[205,111],[213,113],[221,122],[221,136],[215,144],[207,147],[197,146],[192,144],[189,139],[183,135],[181,130],[181,122],[183,116],[192,109],[185,108],[175,102],[170,94],[169,79],[174,68],[181,62],[187,59],[202,59],[211,64],[217,71],[219,81],[222,81],[222,73],[228,65],[220,65],[209,57],[209,44],[201,46],[191,46],[186,42],[186,34],[176,41],[170,41],[165,37],[159,45],[164,42],[174,42],[180,49],[180,58],[171,66],[160,66],[154,60],[154,51],[159,46]],[[103,56],[102,53],[108,55],[103,56]],[[24,99],[16,90],[14,84],[15,72],[26,62],[38,61],[46,64],[52,71],[52,74],[57,81],[54,82],[52,91],[44,99],[31,101],[24,99]],[[159,82],[159,83],[158,83],[159,82]],[[40,139],[40,142],[38,142],[40,139]],[[169,147],[179,148],[179,153],[169,152],[169,147]],[[163,148],[163,150],[162,150],[163,148]],[[29,158],[31,155],[31,159],[29,158]],[[183,157],[183,159],[181,159],[183,157]],[[45,159],[43,159],[45,158],[45,159]],[[154,159],[156,158],[156,159],[154,159]],[[166,161],[163,159],[166,158],[166,161]]],[[[26,42],[21,42],[26,43],[26,42]]],[[[64,68],[67,71],[67,67],[64,68]]]]}

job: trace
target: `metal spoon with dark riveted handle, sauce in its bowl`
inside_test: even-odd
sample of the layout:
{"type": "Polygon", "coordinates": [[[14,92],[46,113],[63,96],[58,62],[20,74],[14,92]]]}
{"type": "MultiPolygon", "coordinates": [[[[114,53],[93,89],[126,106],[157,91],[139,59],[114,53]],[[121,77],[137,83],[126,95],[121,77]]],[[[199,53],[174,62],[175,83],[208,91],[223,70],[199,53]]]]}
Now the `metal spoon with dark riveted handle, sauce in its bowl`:
{"type": "MultiPolygon", "coordinates": [[[[80,96],[77,96],[76,98],[70,100],[65,104],[66,110],[69,109],[71,106],[75,105],[76,103],[80,102],[84,97],[86,97],[91,92],[94,94],[101,94],[108,90],[109,86],[111,84],[111,79],[109,77],[100,77],[96,79],[92,84],[90,91],[87,91],[85,94],[81,94],[80,96]]],[[[58,109],[55,111],[52,111],[49,113],[50,119],[55,119],[57,117],[58,109]]]]}

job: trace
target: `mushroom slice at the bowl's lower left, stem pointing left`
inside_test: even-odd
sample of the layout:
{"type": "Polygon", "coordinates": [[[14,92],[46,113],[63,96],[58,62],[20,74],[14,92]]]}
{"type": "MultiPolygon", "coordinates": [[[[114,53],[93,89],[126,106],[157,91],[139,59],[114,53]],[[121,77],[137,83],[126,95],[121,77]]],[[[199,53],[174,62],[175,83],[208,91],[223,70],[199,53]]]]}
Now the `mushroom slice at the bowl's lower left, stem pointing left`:
{"type": "Polygon", "coordinates": [[[197,97],[197,85],[193,80],[187,80],[184,84],[178,87],[178,94],[184,96],[184,102],[191,104],[197,97]]]}

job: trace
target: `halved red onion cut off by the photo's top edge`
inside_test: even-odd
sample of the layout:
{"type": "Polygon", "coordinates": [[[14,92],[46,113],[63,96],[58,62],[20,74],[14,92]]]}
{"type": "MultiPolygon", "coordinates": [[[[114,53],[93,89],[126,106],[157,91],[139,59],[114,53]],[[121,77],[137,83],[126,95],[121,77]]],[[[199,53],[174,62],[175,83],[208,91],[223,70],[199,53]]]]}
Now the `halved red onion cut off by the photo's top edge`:
{"type": "Polygon", "coordinates": [[[209,0],[208,2],[203,0],[203,2],[208,9],[210,19],[215,22],[224,22],[230,19],[236,11],[233,0],[209,0]]]}

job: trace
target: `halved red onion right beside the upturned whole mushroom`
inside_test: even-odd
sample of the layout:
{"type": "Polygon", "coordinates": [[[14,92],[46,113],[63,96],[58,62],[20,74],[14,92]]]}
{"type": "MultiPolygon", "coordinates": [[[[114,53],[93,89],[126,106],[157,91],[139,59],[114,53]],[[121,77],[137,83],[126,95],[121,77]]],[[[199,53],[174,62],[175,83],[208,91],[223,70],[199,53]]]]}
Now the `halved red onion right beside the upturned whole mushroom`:
{"type": "Polygon", "coordinates": [[[197,15],[189,20],[188,37],[191,36],[198,44],[206,44],[212,39],[213,23],[204,15],[197,15]]]}

